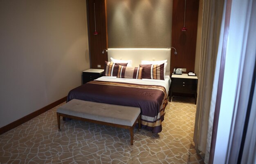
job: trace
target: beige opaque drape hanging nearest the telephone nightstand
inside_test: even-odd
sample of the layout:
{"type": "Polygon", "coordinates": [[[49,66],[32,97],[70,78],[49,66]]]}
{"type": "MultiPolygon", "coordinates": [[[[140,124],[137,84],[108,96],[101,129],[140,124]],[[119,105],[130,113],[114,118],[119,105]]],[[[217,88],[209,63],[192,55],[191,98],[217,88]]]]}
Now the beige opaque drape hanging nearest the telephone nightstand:
{"type": "Polygon", "coordinates": [[[198,102],[193,140],[197,151],[205,156],[205,163],[209,161],[211,145],[214,110],[210,111],[210,109],[215,108],[216,90],[213,88],[213,83],[214,78],[215,81],[218,80],[218,71],[215,70],[216,67],[219,67],[218,61],[220,61],[217,54],[221,50],[218,45],[223,37],[223,29],[220,28],[224,20],[222,18],[223,11],[223,0],[204,1],[198,102]]]}

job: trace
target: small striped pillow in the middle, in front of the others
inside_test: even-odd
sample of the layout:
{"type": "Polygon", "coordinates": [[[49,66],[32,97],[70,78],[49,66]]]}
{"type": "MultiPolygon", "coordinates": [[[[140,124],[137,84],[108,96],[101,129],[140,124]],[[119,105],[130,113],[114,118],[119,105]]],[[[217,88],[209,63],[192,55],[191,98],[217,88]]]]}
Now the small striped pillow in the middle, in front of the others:
{"type": "Polygon", "coordinates": [[[117,78],[142,79],[143,67],[119,65],[117,78]]]}

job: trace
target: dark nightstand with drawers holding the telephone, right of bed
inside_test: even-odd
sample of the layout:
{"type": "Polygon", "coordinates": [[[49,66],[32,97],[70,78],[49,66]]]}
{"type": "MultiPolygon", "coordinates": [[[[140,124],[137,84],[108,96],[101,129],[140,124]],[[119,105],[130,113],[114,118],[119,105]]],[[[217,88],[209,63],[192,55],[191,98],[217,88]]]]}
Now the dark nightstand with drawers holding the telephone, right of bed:
{"type": "Polygon", "coordinates": [[[196,104],[197,86],[197,76],[189,76],[186,73],[182,73],[182,75],[173,74],[171,76],[170,99],[172,98],[173,93],[194,94],[196,104]]]}

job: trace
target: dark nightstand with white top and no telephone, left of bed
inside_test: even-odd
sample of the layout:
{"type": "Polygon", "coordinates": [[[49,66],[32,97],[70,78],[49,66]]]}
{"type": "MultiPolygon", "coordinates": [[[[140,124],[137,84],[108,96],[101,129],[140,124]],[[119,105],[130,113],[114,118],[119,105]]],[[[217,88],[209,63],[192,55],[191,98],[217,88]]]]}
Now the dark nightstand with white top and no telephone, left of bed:
{"type": "Polygon", "coordinates": [[[88,69],[83,71],[83,84],[101,77],[103,72],[104,69],[88,69]]]}

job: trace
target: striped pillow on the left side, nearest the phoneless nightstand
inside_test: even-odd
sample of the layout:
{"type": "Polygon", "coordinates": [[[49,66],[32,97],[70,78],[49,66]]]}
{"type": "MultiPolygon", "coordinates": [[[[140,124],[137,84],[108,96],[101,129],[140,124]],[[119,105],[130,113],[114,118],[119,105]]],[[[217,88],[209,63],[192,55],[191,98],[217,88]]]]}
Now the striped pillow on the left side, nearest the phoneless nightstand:
{"type": "Polygon", "coordinates": [[[105,61],[105,70],[103,75],[105,76],[117,76],[119,65],[127,66],[127,63],[114,63],[105,61]]]}

